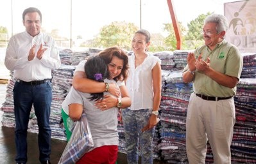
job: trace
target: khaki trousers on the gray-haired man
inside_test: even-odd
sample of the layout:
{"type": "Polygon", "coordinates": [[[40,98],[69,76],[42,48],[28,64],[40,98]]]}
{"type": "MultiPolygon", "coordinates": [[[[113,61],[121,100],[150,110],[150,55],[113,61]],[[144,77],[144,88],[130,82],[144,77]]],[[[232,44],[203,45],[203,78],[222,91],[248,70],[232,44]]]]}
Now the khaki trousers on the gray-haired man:
{"type": "Polygon", "coordinates": [[[208,101],[192,93],[186,120],[186,149],[189,163],[205,163],[209,140],[214,163],[231,164],[230,145],[234,124],[234,98],[208,101]]]}

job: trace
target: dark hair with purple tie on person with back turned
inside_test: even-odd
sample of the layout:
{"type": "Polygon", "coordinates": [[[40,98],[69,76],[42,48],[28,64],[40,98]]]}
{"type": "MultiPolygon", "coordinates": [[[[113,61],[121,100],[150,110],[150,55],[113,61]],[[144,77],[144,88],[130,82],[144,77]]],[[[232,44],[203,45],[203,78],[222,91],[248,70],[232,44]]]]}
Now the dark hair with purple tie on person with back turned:
{"type": "MultiPolygon", "coordinates": [[[[99,56],[89,57],[85,63],[85,74],[91,80],[104,82],[104,79],[108,78],[108,66],[105,60],[99,56]]],[[[103,98],[104,93],[91,93],[90,95],[90,101],[97,101],[103,98]]]]}

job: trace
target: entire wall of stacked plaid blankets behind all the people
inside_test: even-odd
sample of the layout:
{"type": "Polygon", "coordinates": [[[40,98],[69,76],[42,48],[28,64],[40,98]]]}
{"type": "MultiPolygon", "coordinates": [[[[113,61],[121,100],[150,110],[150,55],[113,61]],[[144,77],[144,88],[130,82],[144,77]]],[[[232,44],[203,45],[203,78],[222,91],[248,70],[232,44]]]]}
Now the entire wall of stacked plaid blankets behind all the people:
{"type": "MultiPolygon", "coordinates": [[[[61,103],[71,89],[73,72],[80,61],[98,54],[100,50],[74,52],[70,49],[60,50],[62,66],[53,70],[53,102],[51,106],[52,137],[66,140],[62,123],[61,103]]],[[[160,103],[160,122],[155,129],[153,139],[153,158],[166,163],[188,163],[185,147],[185,123],[187,105],[192,93],[192,83],[185,84],[182,70],[187,64],[187,54],[191,50],[175,50],[174,52],[155,52],[161,59],[162,67],[162,100],[160,103]]],[[[231,146],[232,163],[256,163],[256,53],[243,54],[244,67],[241,79],[237,84],[235,100],[236,122],[231,146]]],[[[2,124],[15,126],[13,112],[13,72],[10,71],[6,100],[3,110],[2,124]]],[[[119,152],[126,153],[123,124],[119,118],[119,152]]],[[[28,131],[38,133],[37,118],[31,109],[28,131]]],[[[212,151],[208,145],[206,163],[213,163],[212,151]]]]}

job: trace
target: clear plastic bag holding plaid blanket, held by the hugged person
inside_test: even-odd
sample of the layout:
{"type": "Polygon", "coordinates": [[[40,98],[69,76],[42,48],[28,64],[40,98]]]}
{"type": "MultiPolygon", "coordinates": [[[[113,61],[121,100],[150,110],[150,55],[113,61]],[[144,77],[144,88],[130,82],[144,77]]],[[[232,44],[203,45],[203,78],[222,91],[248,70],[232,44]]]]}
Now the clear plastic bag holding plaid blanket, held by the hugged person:
{"type": "Polygon", "coordinates": [[[94,146],[89,123],[85,114],[74,123],[71,138],[58,161],[58,164],[76,163],[80,158],[94,146]]]}

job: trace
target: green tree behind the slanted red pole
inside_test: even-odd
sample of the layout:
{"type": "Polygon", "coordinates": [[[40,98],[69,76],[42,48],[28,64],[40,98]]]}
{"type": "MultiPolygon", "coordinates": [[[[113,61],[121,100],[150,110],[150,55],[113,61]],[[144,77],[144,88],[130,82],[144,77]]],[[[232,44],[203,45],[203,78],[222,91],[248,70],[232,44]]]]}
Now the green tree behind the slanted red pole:
{"type": "MultiPolygon", "coordinates": [[[[185,27],[182,26],[182,23],[179,22],[178,23],[180,26],[180,33],[182,33],[182,36],[185,34],[186,29],[185,27]]],[[[175,36],[175,30],[173,28],[173,24],[164,24],[164,31],[167,31],[167,33],[169,33],[169,35],[165,38],[164,42],[166,43],[167,47],[166,50],[176,50],[176,36],[175,36]]],[[[185,40],[182,37],[182,42],[183,40],[185,40]]]]}

